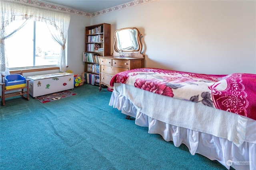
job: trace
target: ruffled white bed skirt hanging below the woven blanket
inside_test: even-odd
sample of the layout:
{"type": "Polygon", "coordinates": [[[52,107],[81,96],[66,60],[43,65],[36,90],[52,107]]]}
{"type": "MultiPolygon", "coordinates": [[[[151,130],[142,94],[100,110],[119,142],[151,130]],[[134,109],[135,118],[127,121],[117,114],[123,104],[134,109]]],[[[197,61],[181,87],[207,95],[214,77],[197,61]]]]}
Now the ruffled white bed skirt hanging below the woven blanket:
{"type": "MultiPolygon", "coordinates": [[[[210,160],[217,160],[227,169],[230,166],[236,170],[256,169],[256,144],[255,142],[243,142],[237,147],[228,139],[209,135],[183,127],[178,127],[153,119],[141,113],[128,98],[115,90],[112,92],[109,106],[113,106],[122,113],[135,117],[135,124],[148,127],[148,133],[160,134],[166,141],[173,141],[176,147],[185,144],[192,155],[198,153],[210,160]]],[[[247,122],[246,134],[248,131],[255,133],[256,121],[247,122]]],[[[256,134],[246,135],[246,141],[254,141],[256,134]],[[253,139],[252,139],[253,138],[253,139]]]]}

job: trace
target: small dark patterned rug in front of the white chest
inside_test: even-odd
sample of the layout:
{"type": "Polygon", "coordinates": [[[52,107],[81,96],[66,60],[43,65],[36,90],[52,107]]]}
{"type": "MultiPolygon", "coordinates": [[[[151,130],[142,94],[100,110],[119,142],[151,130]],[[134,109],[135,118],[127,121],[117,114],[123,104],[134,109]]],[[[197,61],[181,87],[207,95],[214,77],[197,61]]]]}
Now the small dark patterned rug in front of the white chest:
{"type": "Polygon", "coordinates": [[[52,93],[52,94],[47,94],[44,96],[38,96],[36,99],[39,100],[41,103],[48,103],[48,102],[53,102],[56,100],[68,98],[70,96],[75,96],[77,95],[76,93],[73,93],[69,90],[65,90],[62,92],[57,92],[57,93],[52,93]]]}

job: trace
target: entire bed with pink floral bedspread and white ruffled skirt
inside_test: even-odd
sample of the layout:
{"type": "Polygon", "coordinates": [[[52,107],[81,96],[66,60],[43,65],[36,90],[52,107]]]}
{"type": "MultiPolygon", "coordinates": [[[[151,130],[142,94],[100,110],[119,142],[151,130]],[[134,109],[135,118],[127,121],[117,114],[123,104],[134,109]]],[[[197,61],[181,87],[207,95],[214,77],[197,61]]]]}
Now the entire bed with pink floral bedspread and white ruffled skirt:
{"type": "Polygon", "coordinates": [[[256,74],[138,68],[116,74],[109,105],[176,147],[227,169],[256,169],[256,74]]]}

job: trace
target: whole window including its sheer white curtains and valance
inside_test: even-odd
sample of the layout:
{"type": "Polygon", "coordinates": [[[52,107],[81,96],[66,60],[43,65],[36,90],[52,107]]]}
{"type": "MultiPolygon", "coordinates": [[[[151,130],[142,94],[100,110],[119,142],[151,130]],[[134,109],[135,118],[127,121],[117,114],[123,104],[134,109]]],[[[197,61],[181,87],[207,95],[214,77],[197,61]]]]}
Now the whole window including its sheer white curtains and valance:
{"type": "Polygon", "coordinates": [[[54,66],[66,72],[65,50],[70,14],[15,1],[2,0],[0,6],[1,74],[8,75],[12,69],[49,70],[54,66]]]}

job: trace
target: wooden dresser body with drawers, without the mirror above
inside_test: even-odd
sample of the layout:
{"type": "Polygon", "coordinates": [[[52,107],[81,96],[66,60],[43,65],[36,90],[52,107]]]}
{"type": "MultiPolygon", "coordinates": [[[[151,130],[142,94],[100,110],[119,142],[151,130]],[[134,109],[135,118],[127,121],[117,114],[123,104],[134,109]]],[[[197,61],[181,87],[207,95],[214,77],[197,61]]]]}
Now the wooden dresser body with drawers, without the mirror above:
{"type": "Polygon", "coordinates": [[[118,72],[144,67],[144,58],[105,56],[100,57],[100,88],[105,85],[109,88],[110,80],[118,72]]]}

